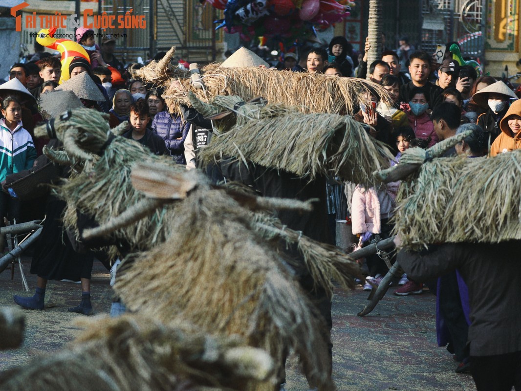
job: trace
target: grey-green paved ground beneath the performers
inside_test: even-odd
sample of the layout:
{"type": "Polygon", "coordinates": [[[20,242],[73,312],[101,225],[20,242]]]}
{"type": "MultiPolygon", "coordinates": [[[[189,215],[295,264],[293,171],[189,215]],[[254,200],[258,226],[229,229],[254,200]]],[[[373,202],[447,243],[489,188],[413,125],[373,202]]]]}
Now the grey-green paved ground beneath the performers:
{"type": "MultiPolygon", "coordinates": [[[[32,295],[36,278],[29,274],[30,258],[22,259],[32,295]]],[[[22,290],[20,271],[0,274],[0,305],[13,305],[13,295],[29,295],[22,290]]],[[[333,298],[333,377],[338,390],[474,390],[470,375],[454,372],[452,356],[436,344],[435,296],[397,297],[390,288],[376,309],[365,317],[356,314],[367,302],[367,292],[356,288],[338,290],[333,298]]],[[[67,308],[80,300],[80,285],[49,282],[44,311],[26,310],[26,337],[21,348],[0,351],[0,371],[23,365],[32,357],[63,348],[78,334],[75,321],[83,315],[67,308]]],[[[111,289],[106,269],[94,263],[92,302],[96,314],[107,315],[111,289]]],[[[287,365],[288,391],[308,389],[295,359],[287,365]]]]}

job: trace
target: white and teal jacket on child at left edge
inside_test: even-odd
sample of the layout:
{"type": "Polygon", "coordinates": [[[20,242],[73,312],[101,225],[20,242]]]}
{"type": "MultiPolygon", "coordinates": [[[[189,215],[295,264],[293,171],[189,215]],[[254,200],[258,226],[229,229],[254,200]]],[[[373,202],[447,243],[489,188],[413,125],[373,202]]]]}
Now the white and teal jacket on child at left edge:
{"type": "Polygon", "coordinates": [[[7,175],[31,168],[36,159],[32,137],[23,129],[22,121],[11,133],[5,125],[5,118],[0,119],[0,147],[0,181],[4,181],[7,175]]]}

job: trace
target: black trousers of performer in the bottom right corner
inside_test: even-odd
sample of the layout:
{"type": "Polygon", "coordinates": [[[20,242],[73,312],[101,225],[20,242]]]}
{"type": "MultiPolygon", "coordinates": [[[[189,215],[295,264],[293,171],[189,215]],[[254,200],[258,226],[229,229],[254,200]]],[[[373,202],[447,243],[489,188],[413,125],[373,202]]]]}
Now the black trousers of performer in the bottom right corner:
{"type": "Polygon", "coordinates": [[[478,391],[521,391],[521,351],[470,356],[470,372],[478,391]]]}

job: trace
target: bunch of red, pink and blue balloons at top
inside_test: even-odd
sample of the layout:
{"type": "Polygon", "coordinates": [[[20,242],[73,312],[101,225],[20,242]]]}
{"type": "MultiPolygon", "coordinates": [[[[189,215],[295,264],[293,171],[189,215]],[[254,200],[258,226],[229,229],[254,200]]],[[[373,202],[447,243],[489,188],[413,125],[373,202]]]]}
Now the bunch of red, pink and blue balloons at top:
{"type": "Polygon", "coordinates": [[[253,36],[291,38],[325,29],[347,18],[354,3],[350,0],[202,0],[224,10],[216,29],[253,36]]]}

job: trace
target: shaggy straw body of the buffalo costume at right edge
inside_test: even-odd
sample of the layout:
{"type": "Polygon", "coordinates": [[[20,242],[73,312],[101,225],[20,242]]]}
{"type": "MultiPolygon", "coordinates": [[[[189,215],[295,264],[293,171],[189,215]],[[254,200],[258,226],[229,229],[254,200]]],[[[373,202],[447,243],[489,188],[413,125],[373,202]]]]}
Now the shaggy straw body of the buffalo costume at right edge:
{"type": "MultiPolygon", "coordinates": [[[[401,164],[401,162],[400,162],[401,164]]],[[[521,151],[440,158],[402,183],[395,214],[404,247],[521,239],[521,151]]]]}

